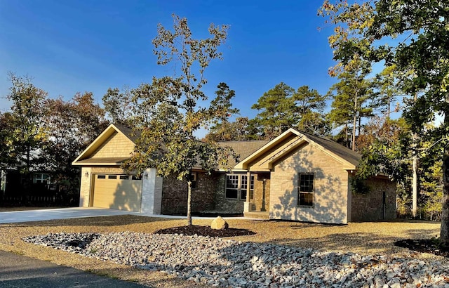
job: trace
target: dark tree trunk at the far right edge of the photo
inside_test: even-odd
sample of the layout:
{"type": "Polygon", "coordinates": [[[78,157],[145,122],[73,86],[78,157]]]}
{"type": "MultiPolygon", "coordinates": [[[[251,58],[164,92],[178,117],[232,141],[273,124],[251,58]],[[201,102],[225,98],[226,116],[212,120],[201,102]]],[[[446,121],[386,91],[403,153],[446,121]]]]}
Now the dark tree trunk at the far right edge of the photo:
{"type": "MultiPolygon", "coordinates": [[[[449,126],[449,113],[445,113],[444,126],[449,126]]],[[[449,147],[445,145],[443,155],[443,199],[441,209],[441,247],[449,248],[449,147]]]]}

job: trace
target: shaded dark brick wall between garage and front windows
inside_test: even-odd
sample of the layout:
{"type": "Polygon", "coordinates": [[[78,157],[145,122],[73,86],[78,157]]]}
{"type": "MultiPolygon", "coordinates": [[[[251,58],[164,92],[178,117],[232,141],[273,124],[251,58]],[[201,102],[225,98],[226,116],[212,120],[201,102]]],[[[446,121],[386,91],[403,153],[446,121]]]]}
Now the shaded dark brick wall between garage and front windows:
{"type": "MultiPolygon", "coordinates": [[[[197,188],[192,190],[192,213],[213,211],[217,176],[198,173],[196,183],[197,188]]],[[[161,214],[187,214],[186,181],[179,181],[174,176],[163,178],[161,214]]]]}

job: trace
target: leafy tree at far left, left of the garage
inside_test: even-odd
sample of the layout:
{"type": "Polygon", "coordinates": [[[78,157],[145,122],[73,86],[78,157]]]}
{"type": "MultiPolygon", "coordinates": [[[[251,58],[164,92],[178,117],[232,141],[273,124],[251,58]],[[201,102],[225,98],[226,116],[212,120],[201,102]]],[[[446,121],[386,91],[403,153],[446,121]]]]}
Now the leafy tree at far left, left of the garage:
{"type": "Polygon", "coordinates": [[[25,179],[29,181],[29,171],[41,164],[38,151],[46,139],[42,119],[47,93],[34,86],[29,77],[18,77],[10,73],[9,78],[12,86],[6,97],[13,105],[7,117],[8,126],[12,130],[4,140],[8,153],[13,158],[11,165],[25,174],[25,179]]]}

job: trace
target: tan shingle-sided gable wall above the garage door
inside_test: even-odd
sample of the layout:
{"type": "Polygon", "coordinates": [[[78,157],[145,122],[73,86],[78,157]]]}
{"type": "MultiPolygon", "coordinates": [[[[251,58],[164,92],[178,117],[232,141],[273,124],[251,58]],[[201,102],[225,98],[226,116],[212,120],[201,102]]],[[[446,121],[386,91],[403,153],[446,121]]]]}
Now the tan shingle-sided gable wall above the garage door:
{"type": "Polygon", "coordinates": [[[92,158],[129,157],[134,151],[134,144],[121,133],[114,132],[94,153],[92,158]]]}

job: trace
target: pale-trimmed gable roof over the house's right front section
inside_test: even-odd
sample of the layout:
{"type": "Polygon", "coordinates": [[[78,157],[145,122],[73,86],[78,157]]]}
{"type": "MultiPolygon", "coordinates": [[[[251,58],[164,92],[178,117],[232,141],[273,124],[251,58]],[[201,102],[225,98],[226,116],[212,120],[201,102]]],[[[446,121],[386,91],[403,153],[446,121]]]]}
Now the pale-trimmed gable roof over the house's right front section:
{"type": "Polygon", "coordinates": [[[273,148],[281,145],[282,143],[284,143],[284,141],[286,141],[286,139],[291,138],[292,136],[298,136],[299,138],[286,146],[283,150],[284,152],[278,152],[276,155],[272,155],[272,157],[269,157],[269,159],[267,159],[267,161],[269,162],[268,164],[271,164],[276,159],[279,159],[279,157],[282,157],[283,154],[290,152],[291,150],[302,145],[302,143],[306,142],[314,145],[316,148],[337,159],[337,161],[344,164],[345,169],[356,169],[356,166],[358,166],[358,162],[361,159],[360,154],[344,147],[343,145],[336,143],[333,140],[321,138],[319,136],[314,136],[309,133],[297,131],[290,128],[287,131],[283,132],[281,135],[263,145],[251,155],[248,155],[248,157],[241,159],[241,161],[237,163],[234,168],[245,170],[248,169],[248,164],[255,161],[255,159],[262,157],[263,155],[267,155],[267,153],[272,152],[273,148]]]}

